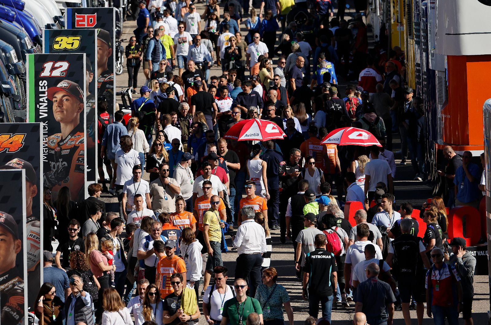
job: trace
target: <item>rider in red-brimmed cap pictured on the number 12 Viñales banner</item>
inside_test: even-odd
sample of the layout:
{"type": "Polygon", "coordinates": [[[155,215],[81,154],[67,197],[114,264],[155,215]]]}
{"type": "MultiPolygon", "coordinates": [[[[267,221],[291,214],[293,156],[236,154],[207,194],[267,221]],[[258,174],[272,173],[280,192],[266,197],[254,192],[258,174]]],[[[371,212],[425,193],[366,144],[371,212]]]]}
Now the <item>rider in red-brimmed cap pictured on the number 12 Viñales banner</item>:
{"type": "Polygon", "coordinates": [[[85,178],[85,143],[83,123],[83,91],[75,82],[63,80],[48,88],[47,97],[53,101],[53,115],[60,123],[61,133],[48,137],[50,171],[44,174],[44,185],[57,192],[63,186],[71,190],[72,200],[79,199],[85,178]]]}

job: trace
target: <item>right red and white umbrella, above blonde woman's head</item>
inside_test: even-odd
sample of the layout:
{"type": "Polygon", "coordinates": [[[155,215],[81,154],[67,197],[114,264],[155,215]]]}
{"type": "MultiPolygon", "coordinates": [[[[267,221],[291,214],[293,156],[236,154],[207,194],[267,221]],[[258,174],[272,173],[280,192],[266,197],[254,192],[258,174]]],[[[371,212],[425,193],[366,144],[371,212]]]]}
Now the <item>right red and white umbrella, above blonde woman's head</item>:
{"type": "Polygon", "coordinates": [[[338,144],[341,146],[357,145],[357,146],[379,146],[382,147],[375,135],[363,129],[353,127],[341,128],[331,131],[321,141],[322,144],[338,144]]]}

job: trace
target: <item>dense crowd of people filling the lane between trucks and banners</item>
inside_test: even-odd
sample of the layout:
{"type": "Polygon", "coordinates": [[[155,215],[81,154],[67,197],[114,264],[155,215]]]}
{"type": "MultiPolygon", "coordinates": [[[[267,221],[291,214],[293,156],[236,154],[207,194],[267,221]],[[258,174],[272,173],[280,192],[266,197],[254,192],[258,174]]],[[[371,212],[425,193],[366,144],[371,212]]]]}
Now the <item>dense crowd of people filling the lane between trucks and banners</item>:
{"type": "Polygon", "coordinates": [[[55,201],[44,189],[46,283],[32,306],[44,324],[293,325],[273,231],[293,245],[287,272],[301,282],[305,325],[353,307],[355,325],[391,325],[395,310],[410,325],[411,309],[421,325],[425,308],[436,325],[458,324],[460,312],[473,324],[476,260],[463,238],[448,238],[446,207],[478,205],[485,178],[470,152],[445,147],[441,196],[420,216],[409,202],[396,207],[394,154],[410,160],[414,180],[429,175],[423,106],[405,87],[400,48],[369,50],[362,16],[345,20],[342,0],[263,0],[259,9],[209,0],[203,13],[190,0],[134,4],[126,57],[140,97],[128,115],[98,106],[100,184],[82,202],[69,188],[55,201]],[[210,76],[214,65],[220,76],[210,76]],[[254,118],[286,136],[225,138],[254,118]],[[321,144],[348,126],[382,146],[321,144]],[[103,192],[119,211],[107,211],[103,192]],[[352,226],[343,210],[356,201],[352,226]],[[233,285],[227,251],[237,252],[233,285]]]}

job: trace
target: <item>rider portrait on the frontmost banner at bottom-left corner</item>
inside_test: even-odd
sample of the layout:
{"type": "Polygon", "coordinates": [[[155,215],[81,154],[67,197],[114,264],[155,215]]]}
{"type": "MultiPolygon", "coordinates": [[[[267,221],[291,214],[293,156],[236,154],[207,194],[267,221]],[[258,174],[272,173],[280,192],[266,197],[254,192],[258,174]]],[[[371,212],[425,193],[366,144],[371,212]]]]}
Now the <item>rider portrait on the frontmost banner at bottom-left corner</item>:
{"type": "Polygon", "coordinates": [[[24,318],[24,280],[15,268],[21,240],[15,220],[0,212],[0,322],[19,324],[24,318]]]}

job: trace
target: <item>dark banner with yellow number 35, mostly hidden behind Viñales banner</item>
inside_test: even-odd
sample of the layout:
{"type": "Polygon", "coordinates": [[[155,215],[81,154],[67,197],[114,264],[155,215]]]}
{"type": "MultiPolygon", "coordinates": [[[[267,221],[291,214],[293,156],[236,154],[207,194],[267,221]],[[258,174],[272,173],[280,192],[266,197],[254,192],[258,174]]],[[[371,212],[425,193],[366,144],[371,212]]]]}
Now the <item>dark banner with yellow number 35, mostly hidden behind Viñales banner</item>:
{"type": "Polygon", "coordinates": [[[44,53],[85,53],[85,105],[87,117],[85,129],[87,141],[85,158],[87,161],[87,182],[97,181],[97,82],[94,74],[97,73],[97,34],[95,29],[45,29],[44,53]]]}

